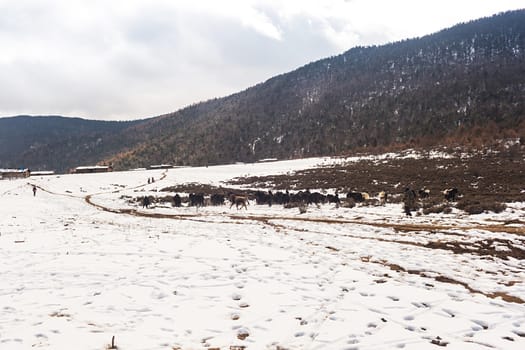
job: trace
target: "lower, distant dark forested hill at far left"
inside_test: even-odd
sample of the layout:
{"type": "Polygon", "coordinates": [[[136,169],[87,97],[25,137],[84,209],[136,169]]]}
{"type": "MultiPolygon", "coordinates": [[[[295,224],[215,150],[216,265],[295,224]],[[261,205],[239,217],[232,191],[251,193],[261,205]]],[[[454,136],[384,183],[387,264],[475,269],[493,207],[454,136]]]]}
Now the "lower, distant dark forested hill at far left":
{"type": "Polygon", "coordinates": [[[108,122],[61,116],[0,118],[0,168],[67,171],[119,149],[112,135],[144,121],[108,122]]]}

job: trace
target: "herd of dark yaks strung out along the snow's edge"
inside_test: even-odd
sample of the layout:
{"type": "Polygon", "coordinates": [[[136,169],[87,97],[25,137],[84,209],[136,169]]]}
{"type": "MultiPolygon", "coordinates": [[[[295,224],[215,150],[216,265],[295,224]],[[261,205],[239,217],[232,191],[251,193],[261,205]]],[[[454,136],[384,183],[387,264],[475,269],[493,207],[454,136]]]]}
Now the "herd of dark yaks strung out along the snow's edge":
{"type": "MultiPolygon", "coordinates": [[[[430,191],[427,189],[420,189],[414,191],[412,189],[405,189],[405,195],[410,191],[414,193],[414,196],[418,196],[422,199],[427,198],[430,195],[430,191]]],[[[459,195],[457,188],[450,188],[443,191],[444,199],[447,201],[455,201],[459,195]]],[[[387,201],[387,194],[382,191],[377,196],[371,197],[366,192],[348,192],[343,198],[339,197],[339,194],[322,194],[319,192],[310,192],[309,190],[298,191],[296,193],[290,193],[288,190],[282,192],[278,191],[273,193],[272,191],[255,191],[250,193],[236,194],[236,193],[213,193],[209,196],[204,193],[190,193],[187,197],[181,197],[179,194],[175,194],[171,198],[172,206],[182,207],[183,204],[189,207],[204,207],[204,206],[220,206],[229,203],[230,208],[235,206],[237,209],[247,209],[247,205],[250,201],[255,200],[257,205],[282,205],[285,208],[302,207],[308,205],[321,205],[326,203],[333,203],[337,206],[349,206],[352,207],[356,203],[371,203],[376,205],[384,205],[387,201]]],[[[142,197],[142,207],[148,208],[152,203],[152,198],[149,196],[142,197]]]]}

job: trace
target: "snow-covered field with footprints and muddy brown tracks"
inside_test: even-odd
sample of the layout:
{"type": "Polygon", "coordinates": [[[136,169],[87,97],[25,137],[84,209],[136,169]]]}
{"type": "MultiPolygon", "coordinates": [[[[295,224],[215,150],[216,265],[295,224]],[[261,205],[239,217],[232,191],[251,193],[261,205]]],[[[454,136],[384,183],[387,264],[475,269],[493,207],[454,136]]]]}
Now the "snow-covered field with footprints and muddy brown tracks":
{"type": "Polygon", "coordinates": [[[525,349],[523,203],[406,218],[123,197],[334,161],[0,181],[0,349],[525,349]]]}

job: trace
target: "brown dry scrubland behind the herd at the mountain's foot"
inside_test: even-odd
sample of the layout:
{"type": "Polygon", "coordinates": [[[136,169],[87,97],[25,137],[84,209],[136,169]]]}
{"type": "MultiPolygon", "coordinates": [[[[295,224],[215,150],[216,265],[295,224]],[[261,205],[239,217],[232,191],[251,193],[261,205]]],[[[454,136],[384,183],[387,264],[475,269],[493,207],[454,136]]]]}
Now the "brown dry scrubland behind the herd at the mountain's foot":
{"type": "MultiPolygon", "coordinates": [[[[389,202],[400,202],[405,187],[430,189],[421,201],[426,212],[446,212],[453,205],[444,203],[442,191],[456,187],[461,198],[458,208],[470,213],[500,212],[501,203],[525,201],[525,147],[516,150],[478,152],[468,157],[363,160],[345,165],[298,171],[294,174],[237,178],[235,185],[272,190],[338,190],[389,193],[389,202]],[[448,208],[448,209],[447,209],[448,208]]],[[[455,204],[454,204],[455,206],[455,204]]]]}

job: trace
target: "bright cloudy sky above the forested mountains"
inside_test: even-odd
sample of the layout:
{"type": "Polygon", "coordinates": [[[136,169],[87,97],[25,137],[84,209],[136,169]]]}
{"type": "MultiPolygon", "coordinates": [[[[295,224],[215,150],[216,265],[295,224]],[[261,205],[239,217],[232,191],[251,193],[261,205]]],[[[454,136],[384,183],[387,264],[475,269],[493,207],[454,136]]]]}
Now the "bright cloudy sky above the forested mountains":
{"type": "Polygon", "coordinates": [[[129,120],[523,0],[0,0],[0,116],[129,120]]]}

